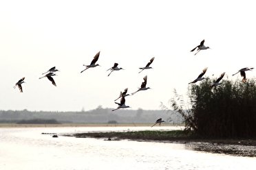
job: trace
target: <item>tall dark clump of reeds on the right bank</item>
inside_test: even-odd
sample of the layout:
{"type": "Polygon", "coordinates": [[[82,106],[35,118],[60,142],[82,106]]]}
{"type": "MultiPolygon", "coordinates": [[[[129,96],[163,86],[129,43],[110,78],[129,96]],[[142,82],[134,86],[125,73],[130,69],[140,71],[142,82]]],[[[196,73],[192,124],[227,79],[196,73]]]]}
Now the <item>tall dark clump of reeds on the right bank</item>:
{"type": "Polygon", "coordinates": [[[206,78],[189,87],[189,110],[175,93],[171,107],[185,119],[186,130],[219,138],[256,137],[256,81],[224,80],[210,88],[214,80],[206,78]]]}

